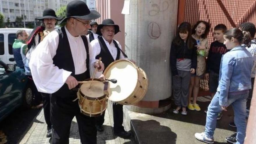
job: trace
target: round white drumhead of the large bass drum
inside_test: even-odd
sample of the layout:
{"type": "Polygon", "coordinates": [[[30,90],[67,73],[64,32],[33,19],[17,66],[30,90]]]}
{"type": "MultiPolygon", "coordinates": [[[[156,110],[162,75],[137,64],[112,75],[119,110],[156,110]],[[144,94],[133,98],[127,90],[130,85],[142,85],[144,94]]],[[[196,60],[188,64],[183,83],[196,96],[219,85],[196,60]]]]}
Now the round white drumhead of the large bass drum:
{"type": "Polygon", "coordinates": [[[117,60],[111,63],[104,71],[106,79],[116,79],[117,83],[109,82],[109,100],[119,102],[133,93],[138,72],[136,65],[128,60],[117,60]]]}

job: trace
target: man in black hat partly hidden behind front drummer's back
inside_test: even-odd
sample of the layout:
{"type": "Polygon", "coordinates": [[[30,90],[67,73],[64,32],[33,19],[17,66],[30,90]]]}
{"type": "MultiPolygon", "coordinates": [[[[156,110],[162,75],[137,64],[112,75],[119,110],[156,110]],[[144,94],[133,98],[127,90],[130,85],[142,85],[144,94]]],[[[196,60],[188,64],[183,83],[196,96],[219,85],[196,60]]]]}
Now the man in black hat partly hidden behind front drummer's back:
{"type": "MultiPolygon", "coordinates": [[[[36,27],[31,35],[29,35],[28,41],[26,42],[28,45],[28,53],[26,54],[26,64],[25,64],[25,71],[26,75],[29,77],[29,80],[31,81],[33,85],[33,93],[35,94],[35,101],[38,103],[38,101],[43,100],[43,109],[44,109],[44,116],[45,116],[45,122],[47,124],[47,135],[46,137],[51,137],[52,129],[51,129],[51,120],[50,120],[50,97],[49,94],[46,93],[39,93],[38,90],[35,87],[35,84],[33,82],[33,78],[31,76],[31,71],[29,68],[29,61],[31,58],[31,54],[35,47],[42,41],[42,39],[51,31],[54,30],[55,24],[57,21],[61,20],[61,17],[57,17],[55,14],[55,11],[53,9],[45,9],[43,11],[43,16],[38,17],[38,20],[42,21],[43,26],[36,27]],[[42,98],[41,98],[42,97],[42,98]]],[[[39,104],[36,106],[37,108],[40,107],[39,104]]]]}

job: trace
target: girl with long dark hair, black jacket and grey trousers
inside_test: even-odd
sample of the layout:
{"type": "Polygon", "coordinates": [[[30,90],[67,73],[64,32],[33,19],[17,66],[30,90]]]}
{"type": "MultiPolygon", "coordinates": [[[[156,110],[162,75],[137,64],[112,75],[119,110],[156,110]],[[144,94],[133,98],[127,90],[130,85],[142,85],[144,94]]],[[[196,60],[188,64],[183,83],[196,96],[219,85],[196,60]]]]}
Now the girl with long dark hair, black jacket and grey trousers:
{"type": "Polygon", "coordinates": [[[170,51],[170,64],[173,75],[173,94],[176,109],[173,113],[187,115],[189,81],[191,74],[195,73],[196,61],[196,41],[191,36],[191,25],[183,22],[178,28],[178,34],[174,38],[170,51]]]}

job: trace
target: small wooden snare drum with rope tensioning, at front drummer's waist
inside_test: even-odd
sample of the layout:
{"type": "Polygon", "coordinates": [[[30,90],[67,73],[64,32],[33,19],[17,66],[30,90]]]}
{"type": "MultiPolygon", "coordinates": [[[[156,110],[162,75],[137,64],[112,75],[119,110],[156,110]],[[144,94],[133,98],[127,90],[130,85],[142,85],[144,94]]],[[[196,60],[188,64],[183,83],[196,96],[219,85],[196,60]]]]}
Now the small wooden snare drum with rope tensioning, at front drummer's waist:
{"type": "MultiPolygon", "coordinates": [[[[99,81],[94,79],[93,81],[99,81]]],[[[91,81],[90,79],[88,82],[91,81]]],[[[107,108],[109,82],[83,83],[77,91],[81,113],[90,117],[102,115],[107,108]]]]}

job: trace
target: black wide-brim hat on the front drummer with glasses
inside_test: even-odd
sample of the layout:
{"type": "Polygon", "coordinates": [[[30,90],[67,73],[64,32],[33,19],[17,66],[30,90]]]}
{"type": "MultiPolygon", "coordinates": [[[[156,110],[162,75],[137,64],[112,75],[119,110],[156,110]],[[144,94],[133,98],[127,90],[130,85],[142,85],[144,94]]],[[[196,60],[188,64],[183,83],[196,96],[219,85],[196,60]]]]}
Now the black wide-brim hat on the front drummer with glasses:
{"type": "Polygon", "coordinates": [[[66,17],[62,19],[60,23],[66,22],[67,19],[70,17],[83,20],[92,20],[97,19],[101,16],[96,10],[90,11],[86,3],[78,0],[71,1],[70,3],[68,3],[66,11],[66,17]]]}

